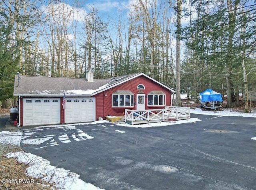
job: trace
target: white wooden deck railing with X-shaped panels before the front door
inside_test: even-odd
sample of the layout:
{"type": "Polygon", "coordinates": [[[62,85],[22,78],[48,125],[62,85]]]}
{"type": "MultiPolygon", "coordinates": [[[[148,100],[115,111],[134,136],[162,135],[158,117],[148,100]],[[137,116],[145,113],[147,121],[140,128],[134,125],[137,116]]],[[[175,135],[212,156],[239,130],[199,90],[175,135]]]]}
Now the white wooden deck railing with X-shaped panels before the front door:
{"type": "Polygon", "coordinates": [[[168,121],[168,119],[190,119],[189,107],[166,106],[163,109],[131,110],[125,109],[125,122],[130,121],[168,121]]]}

